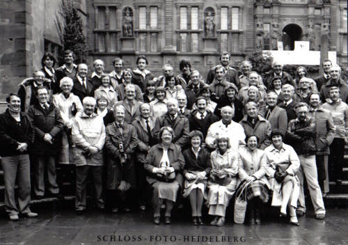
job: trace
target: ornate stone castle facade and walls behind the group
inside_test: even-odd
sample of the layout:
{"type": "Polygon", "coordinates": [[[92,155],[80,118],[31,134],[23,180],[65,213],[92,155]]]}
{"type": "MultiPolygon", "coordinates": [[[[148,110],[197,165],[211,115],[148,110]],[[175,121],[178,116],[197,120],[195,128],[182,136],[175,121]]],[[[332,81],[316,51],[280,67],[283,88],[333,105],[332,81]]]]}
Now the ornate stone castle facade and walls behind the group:
{"type": "MultiPolygon", "coordinates": [[[[17,91],[25,77],[40,69],[45,51],[58,54],[56,29],[60,1],[0,1],[0,101],[17,91]]],[[[255,49],[293,49],[309,40],[312,50],[337,51],[347,69],[346,0],[74,0],[84,22],[89,63],[102,58],[111,71],[113,58],[134,68],[144,54],[159,74],[170,63],[178,71],[189,58],[203,77],[232,54],[232,64],[255,49]]]]}

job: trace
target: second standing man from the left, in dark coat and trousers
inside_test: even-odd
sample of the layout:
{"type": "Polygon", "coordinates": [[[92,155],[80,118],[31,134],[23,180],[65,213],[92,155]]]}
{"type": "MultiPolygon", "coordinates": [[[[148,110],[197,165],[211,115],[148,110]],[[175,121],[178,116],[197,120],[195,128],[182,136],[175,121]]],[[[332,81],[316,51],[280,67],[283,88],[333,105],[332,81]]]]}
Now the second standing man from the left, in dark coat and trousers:
{"type": "Polygon", "coordinates": [[[33,144],[33,167],[35,173],[34,192],[40,199],[45,195],[45,171],[48,191],[60,198],[56,182],[56,155],[61,150],[61,132],[63,119],[60,111],[48,102],[48,89],[38,88],[38,102],[30,107],[28,116],[35,129],[33,144]]]}

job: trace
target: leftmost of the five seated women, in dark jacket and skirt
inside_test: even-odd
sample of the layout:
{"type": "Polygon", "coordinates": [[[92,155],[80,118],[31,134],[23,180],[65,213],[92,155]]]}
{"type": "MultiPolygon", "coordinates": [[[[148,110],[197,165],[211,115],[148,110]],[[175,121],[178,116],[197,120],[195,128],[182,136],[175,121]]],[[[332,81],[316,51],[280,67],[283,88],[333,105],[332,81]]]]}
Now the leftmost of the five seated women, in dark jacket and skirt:
{"type": "Polygon", "coordinates": [[[182,187],[181,171],[184,168],[184,156],[180,146],[172,143],[174,131],[171,127],[162,127],[159,131],[161,143],[152,146],[146,156],[144,168],[148,172],[146,180],[152,188],[154,223],[160,223],[161,205],[166,200],[164,222],[171,223],[171,210],[182,187]]]}

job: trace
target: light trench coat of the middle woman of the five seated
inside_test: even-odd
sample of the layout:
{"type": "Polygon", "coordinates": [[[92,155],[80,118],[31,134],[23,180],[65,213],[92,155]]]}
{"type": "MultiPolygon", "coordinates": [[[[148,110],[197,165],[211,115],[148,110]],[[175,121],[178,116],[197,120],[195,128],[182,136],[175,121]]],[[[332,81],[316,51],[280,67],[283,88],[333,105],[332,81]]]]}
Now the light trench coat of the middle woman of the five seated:
{"type": "Polygon", "coordinates": [[[212,161],[212,170],[220,169],[228,173],[232,178],[230,184],[223,186],[214,182],[208,181],[207,187],[209,193],[207,196],[207,205],[225,205],[228,206],[230,198],[232,198],[237,187],[237,173],[238,173],[238,154],[231,148],[223,155],[219,150],[214,150],[210,159],[212,161]]]}

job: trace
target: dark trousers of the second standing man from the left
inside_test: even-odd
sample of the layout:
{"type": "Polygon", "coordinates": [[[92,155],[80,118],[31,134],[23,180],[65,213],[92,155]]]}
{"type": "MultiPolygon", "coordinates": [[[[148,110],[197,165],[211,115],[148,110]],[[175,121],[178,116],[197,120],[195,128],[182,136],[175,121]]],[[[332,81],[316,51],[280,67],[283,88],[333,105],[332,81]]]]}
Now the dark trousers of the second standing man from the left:
{"type": "Polygon", "coordinates": [[[56,157],[49,155],[34,155],[34,192],[35,196],[44,196],[45,194],[45,172],[47,173],[48,191],[50,193],[58,193],[56,174],[56,157]]]}

